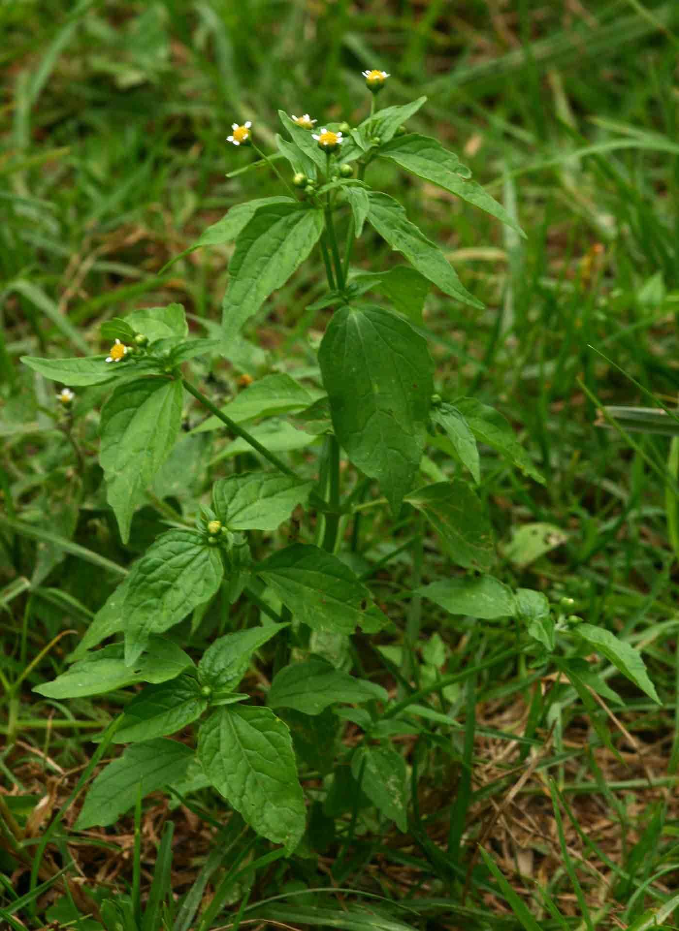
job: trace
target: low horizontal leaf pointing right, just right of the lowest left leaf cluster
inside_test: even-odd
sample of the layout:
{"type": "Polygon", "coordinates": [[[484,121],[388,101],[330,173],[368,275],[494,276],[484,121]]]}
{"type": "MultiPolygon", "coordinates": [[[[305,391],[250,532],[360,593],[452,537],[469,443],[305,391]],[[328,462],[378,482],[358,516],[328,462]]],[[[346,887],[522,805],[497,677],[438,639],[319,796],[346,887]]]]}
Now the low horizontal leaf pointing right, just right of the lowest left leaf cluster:
{"type": "Polygon", "coordinates": [[[266,695],[266,704],[270,708],[295,708],[304,714],[320,714],[338,702],[358,704],[375,699],[386,702],[387,698],[387,691],[376,682],[355,679],[323,659],[309,659],[278,672],[266,695]]]}

